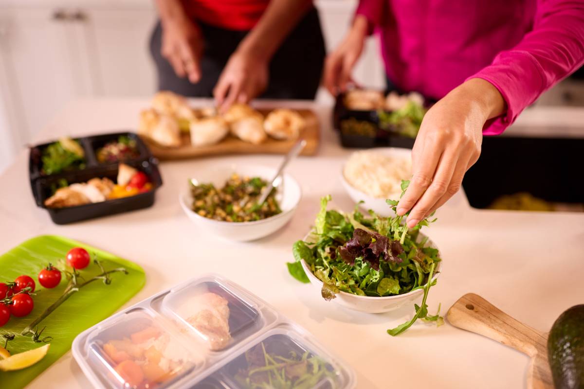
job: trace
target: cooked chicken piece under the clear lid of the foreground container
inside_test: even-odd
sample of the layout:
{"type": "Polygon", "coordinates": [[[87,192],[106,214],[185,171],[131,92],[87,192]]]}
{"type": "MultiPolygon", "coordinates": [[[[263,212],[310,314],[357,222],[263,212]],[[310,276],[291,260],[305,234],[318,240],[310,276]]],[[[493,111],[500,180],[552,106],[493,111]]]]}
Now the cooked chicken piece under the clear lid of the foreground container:
{"type": "Polygon", "coordinates": [[[196,313],[187,321],[207,339],[211,350],[224,349],[231,339],[228,301],[215,293],[203,293],[193,303],[196,313]]]}

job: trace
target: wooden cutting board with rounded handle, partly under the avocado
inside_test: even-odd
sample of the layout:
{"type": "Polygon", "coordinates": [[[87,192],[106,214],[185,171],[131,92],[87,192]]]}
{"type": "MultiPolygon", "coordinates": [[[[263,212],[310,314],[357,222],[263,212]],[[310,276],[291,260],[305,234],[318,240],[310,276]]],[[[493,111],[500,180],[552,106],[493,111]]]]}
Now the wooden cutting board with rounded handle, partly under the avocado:
{"type": "Polygon", "coordinates": [[[474,293],[460,297],[446,318],[454,327],[475,332],[529,355],[527,388],[554,388],[547,358],[548,332],[527,327],[474,293]]]}

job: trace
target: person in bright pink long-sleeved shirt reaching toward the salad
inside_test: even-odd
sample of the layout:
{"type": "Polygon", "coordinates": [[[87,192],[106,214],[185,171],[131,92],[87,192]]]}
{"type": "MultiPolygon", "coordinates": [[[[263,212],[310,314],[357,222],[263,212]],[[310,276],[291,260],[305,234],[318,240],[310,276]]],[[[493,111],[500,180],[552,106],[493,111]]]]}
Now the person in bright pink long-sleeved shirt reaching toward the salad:
{"type": "Polygon", "coordinates": [[[325,62],[333,93],[352,83],[367,35],[381,41],[388,83],[438,100],[412,149],[412,180],[397,207],[408,226],[442,206],[496,135],[584,63],[584,1],[360,0],[325,62]]]}

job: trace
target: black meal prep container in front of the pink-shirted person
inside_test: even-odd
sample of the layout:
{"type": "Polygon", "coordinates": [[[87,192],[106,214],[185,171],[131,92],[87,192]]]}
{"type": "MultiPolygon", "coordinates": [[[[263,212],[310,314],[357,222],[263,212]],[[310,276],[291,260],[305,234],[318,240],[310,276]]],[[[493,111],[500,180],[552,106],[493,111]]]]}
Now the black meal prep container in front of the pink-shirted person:
{"type": "Polygon", "coordinates": [[[344,101],[345,94],[338,94],[333,108],[333,126],[339,132],[343,147],[413,147],[415,138],[399,135],[395,128],[381,128],[377,111],[350,110],[344,101]]]}

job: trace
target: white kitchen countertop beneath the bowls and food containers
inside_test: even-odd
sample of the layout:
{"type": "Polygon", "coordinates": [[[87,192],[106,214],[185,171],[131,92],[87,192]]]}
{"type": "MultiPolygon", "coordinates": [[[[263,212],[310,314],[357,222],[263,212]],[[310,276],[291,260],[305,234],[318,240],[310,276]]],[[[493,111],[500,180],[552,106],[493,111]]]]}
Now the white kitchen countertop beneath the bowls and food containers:
{"type": "MultiPolygon", "coordinates": [[[[86,100],[69,104],[36,142],[60,135],[133,129],[147,100],[86,100]]],[[[217,272],[265,299],[307,328],[357,373],[359,388],[520,388],[528,358],[497,342],[449,324],[416,323],[405,334],[385,330],[413,314],[362,314],[325,302],[312,286],[288,275],[291,245],[309,229],[318,199],[332,194],[340,208],[353,207],[339,181],[350,150],[340,148],[330,124],[330,108],[315,107],[322,119],[318,156],[300,157],[289,171],[300,182],[303,199],[284,229],[251,243],[232,243],[196,230],[178,204],[186,178],[211,169],[218,160],[275,166],[278,156],[229,156],[161,163],[164,185],[152,208],[68,226],[54,225],[34,204],[28,180],[28,153],[1,176],[0,252],[39,234],[61,234],[135,261],[147,282],[127,306],[175,283],[217,272]],[[220,250],[217,250],[220,247],[220,250]]],[[[548,330],[562,311],[584,296],[584,215],[478,211],[457,195],[437,213],[425,232],[442,252],[444,272],[428,299],[442,313],[467,292],[478,293],[538,330],[548,330]]],[[[37,377],[30,388],[88,388],[89,381],[67,353],[37,377]]]]}

